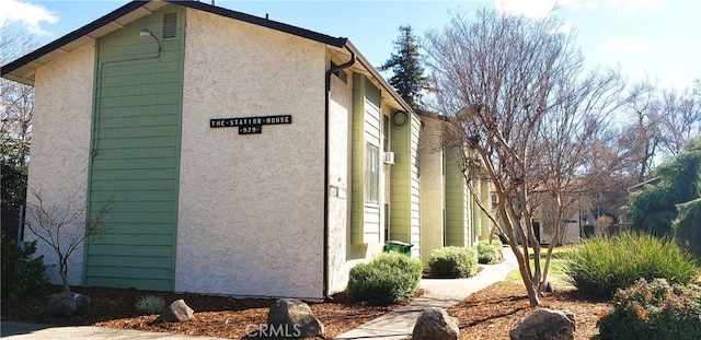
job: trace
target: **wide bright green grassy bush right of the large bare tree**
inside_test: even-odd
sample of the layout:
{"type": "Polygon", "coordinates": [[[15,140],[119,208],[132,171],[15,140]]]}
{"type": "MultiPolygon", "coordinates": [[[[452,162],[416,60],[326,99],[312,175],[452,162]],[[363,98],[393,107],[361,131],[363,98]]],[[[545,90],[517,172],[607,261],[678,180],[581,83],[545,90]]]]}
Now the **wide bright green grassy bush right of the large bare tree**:
{"type": "Polygon", "coordinates": [[[595,236],[563,254],[563,273],[582,293],[610,297],[639,278],[687,284],[699,275],[697,261],[668,238],[621,233],[595,236]]]}

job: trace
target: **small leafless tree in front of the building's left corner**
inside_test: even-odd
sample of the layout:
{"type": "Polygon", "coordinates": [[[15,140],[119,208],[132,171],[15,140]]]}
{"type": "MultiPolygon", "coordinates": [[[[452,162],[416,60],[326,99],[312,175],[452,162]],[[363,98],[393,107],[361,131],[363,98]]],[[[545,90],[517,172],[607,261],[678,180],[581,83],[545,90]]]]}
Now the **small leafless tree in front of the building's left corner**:
{"type": "Polygon", "coordinates": [[[105,203],[88,211],[83,195],[61,194],[59,199],[49,200],[42,191],[34,190],[30,202],[25,224],[38,239],[56,253],[64,292],[70,292],[68,260],[77,249],[99,239],[107,232],[104,219],[113,204],[105,203]]]}

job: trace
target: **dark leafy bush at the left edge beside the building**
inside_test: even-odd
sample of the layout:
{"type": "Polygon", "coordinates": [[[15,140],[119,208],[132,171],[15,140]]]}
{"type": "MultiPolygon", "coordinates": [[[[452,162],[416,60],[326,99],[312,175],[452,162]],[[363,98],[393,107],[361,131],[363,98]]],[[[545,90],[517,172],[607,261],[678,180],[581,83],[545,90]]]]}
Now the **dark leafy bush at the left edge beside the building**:
{"type": "Polygon", "coordinates": [[[36,251],[36,242],[26,244],[24,249],[18,247],[13,237],[4,233],[1,237],[2,247],[2,282],[0,290],[2,298],[35,293],[47,283],[44,278],[44,257],[33,258],[36,251]]]}

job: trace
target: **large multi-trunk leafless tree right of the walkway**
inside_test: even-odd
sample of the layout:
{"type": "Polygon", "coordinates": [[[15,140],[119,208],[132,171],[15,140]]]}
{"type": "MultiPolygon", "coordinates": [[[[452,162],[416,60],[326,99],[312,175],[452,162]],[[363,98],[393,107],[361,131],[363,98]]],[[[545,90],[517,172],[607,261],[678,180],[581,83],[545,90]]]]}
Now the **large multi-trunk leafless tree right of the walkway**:
{"type": "Polygon", "coordinates": [[[607,171],[590,160],[623,86],[617,72],[585,74],[573,36],[561,26],[552,15],[536,21],[483,10],[474,22],[455,15],[427,39],[438,109],[450,120],[447,138],[469,150],[466,169],[478,162],[492,181],[498,224],[531,306],[540,304],[554,245],[544,268],[535,256],[531,269],[529,255],[540,254],[533,211],[554,202],[559,237],[588,178],[607,171]]]}

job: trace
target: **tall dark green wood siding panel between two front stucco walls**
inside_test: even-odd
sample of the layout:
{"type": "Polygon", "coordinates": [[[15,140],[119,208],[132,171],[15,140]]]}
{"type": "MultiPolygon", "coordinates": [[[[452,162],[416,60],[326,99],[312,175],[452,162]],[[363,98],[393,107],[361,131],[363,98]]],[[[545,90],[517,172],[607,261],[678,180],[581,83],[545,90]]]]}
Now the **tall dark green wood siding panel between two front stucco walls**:
{"type": "Polygon", "coordinates": [[[114,208],[88,246],[87,285],[173,290],[183,16],[169,5],[96,43],[90,206],[114,208]],[[163,13],[177,13],[175,37],[163,37],[163,13]]]}

